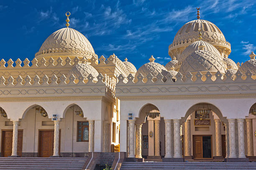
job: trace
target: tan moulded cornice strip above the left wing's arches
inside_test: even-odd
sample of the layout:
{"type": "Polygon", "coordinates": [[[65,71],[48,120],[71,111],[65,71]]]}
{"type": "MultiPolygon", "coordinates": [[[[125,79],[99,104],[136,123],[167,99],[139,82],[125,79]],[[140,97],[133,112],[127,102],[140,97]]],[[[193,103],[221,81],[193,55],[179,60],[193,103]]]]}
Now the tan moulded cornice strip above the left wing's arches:
{"type": "MultiPolygon", "coordinates": [[[[102,96],[64,96],[64,97],[8,97],[0,98],[0,102],[30,102],[30,101],[70,101],[70,100],[102,100],[102,96]]],[[[105,99],[103,99],[105,100],[105,99]]]]}

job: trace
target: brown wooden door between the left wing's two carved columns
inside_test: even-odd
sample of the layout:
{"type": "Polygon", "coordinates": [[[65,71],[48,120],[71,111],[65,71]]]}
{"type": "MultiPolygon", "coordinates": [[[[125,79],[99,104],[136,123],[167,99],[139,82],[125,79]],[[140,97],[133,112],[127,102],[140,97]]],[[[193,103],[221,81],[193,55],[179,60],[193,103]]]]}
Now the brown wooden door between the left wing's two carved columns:
{"type": "MultiPolygon", "coordinates": [[[[61,130],[59,130],[59,154],[60,154],[61,130]]],[[[53,155],[54,150],[54,130],[39,131],[39,157],[48,158],[53,155]]]]}

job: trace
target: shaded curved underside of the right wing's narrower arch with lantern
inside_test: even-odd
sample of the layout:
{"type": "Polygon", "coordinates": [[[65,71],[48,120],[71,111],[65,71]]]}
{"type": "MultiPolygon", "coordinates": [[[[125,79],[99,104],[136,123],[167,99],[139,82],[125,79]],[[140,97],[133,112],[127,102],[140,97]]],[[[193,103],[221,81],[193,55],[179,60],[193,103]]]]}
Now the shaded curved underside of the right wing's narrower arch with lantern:
{"type": "MultiPolygon", "coordinates": [[[[159,111],[159,108],[156,107],[156,105],[151,104],[151,103],[147,103],[145,105],[143,105],[139,111],[136,123],[140,124],[140,123],[145,123],[146,122],[146,117],[147,117],[147,112],[150,112],[151,110],[157,110],[159,111]]],[[[160,113],[160,111],[159,111],[160,113]]]]}

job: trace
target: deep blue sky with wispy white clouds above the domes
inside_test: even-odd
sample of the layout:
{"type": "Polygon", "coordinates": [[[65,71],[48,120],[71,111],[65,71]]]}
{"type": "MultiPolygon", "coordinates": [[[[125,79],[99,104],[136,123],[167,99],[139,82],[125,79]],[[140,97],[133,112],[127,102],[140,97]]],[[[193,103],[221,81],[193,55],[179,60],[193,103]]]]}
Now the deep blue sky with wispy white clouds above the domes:
{"type": "Polygon", "coordinates": [[[100,57],[115,53],[137,69],[154,55],[171,60],[168,46],[179,28],[201,19],[220,28],[231,43],[231,59],[245,62],[256,50],[256,0],[0,0],[1,56],[32,60],[44,40],[65,27],[82,32],[100,57]]]}

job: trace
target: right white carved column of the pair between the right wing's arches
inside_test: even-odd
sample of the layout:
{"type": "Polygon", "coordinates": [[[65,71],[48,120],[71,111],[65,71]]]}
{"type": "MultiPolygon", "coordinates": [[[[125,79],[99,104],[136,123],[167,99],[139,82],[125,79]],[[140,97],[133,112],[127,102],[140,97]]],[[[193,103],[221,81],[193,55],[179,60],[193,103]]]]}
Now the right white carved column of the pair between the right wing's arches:
{"type": "Polygon", "coordinates": [[[174,128],[174,158],[182,158],[182,146],[181,146],[181,133],[180,133],[180,120],[173,120],[174,128]]]}

